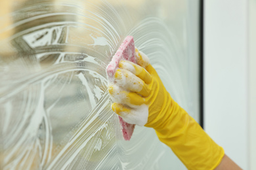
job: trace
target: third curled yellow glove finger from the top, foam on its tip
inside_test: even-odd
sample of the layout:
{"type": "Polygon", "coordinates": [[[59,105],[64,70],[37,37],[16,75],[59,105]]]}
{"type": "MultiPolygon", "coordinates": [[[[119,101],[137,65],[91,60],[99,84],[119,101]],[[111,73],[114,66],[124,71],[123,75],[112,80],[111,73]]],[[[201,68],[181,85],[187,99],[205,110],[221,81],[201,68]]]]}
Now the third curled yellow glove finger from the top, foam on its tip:
{"type": "Polygon", "coordinates": [[[123,103],[129,107],[133,107],[134,105],[142,105],[145,103],[145,99],[141,95],[135,92],[127,92],[116,84],[110,84],[110,86],[108,86],[108,92],[110,93],[110,97],[114,102],[123,103]]]}

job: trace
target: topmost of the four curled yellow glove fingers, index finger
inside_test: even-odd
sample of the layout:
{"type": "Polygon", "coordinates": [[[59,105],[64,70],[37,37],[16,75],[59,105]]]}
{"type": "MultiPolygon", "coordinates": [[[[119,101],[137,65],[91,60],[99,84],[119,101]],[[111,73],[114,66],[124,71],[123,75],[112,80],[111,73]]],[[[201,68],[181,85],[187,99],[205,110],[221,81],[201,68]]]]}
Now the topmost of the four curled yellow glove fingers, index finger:
{"type": "Polygon", "coordinates": [[[152,81],[152,76],[146,69],[143,67],[131,62],[131,61],[120,61],[119,62],[120,69],[127,69],[134,75],[138,76],[141,80],[143,80],[146,84],[149,84],[152,81]]]}

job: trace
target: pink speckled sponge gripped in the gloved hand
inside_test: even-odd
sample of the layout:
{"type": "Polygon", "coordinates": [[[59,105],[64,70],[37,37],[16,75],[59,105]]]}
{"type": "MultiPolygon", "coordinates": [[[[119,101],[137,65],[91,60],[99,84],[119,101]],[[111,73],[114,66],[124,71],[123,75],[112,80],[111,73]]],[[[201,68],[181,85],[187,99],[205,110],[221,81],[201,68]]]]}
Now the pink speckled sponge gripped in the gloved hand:
{"type": "MultiPolygon", "coordinates": [[[[132,36],[127,36],[125,38],[121,46],[119,46],[115,56],[113,56],[112,60],[106,67],[106,73],[108,75],[109,80],[113,78],[114,73],[116,72],[116,69],[119,65],[119,61],[123,59],[136,63],[135,44],[132,36]]],[[[135,124],[128,124],[120,116],[119,124],[121,125],[121,131],[123,132],[123,139],[125,139],[125,141],[129,141],[131,139],[131,135],[133,135],[135,124]]]]}

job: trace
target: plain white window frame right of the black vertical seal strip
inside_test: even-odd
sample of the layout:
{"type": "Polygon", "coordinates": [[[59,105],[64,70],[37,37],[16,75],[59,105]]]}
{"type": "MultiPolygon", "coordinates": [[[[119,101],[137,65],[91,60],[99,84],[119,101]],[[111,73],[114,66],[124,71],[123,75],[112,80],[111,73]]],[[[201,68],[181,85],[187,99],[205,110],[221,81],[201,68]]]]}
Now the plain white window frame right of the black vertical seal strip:
{"type": "Polygon", "coordinates": [[[204,3],[204,127],[242,169],[256,169],[255,5],[204,3]]]}

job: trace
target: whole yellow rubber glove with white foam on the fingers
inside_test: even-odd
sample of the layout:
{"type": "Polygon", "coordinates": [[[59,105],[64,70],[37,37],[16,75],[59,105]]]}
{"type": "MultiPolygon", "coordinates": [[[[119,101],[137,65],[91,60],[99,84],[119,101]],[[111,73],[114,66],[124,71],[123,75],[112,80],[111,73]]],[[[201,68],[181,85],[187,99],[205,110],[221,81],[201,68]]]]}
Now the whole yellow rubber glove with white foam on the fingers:
{"type": "Polygon", "coordinates": [[[153,127],[188,169],[215,169],[223,148],[173,101],[147,56],[136,49],[136,58],[138,65],[120,61],[109,84],[114,112],[130,124],[153,127]]]}

